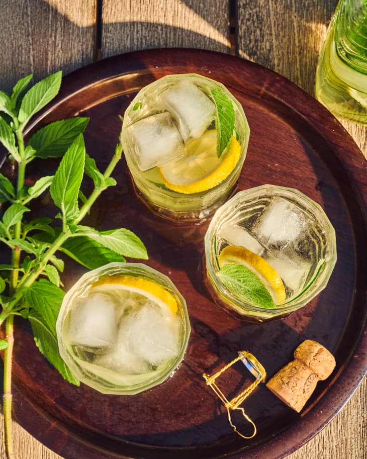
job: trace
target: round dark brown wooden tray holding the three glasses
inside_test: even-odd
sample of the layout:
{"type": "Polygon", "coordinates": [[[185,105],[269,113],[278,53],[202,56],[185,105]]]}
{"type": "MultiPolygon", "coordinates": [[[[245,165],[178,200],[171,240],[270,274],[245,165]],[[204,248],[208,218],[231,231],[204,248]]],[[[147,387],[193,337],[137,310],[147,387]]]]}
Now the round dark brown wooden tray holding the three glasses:
{"type": "MultiPolygon", "coordinates": [[[[109,58],[66,76],[59,96],[35,125],[89,116],[87,152],[103,168],[118,142],[118,115],[137,90],[167,73],[184,72],[223,82],[243,105],[251,135],[239,189],[283,185],[320,203],[336,229],[338,261],[327,288],[305,308],[283,320],[241,322],[217,309],[203,286],[207,225],[172,231],[170,224],[152,216],[134,196],[122,160],[114,174],[117,187],[100,198],[88,223],[104,229],[127,227],[142,238],[147,263],[167,274],[186,297],[192,334],[184,363],[169,381],[136,396],[106,396],[64,382],[38,352],[27,323],[17,321],[14,417],[67,459],[284,457],[336,415],[367,372],[367,163],[338,121],[302,89],[229,55],[148,50],[109,58]],[[219,370],[237,350],[246,349],[271,377],[292,360],[294,349],[306,338],[335,355],[332,376],[318,384],[301,414],[260,385],[244,404],[258,433],[251,440],[239,437],[205,385],[203,372],[219,370]]],[[[65,288],[82,272],[68,262],[65,288]]],[[[250,381],[242,365],[223,378],[229,394],[250,381]]],[[[246,432],[246,423],[236,421],[246,432]]]]}

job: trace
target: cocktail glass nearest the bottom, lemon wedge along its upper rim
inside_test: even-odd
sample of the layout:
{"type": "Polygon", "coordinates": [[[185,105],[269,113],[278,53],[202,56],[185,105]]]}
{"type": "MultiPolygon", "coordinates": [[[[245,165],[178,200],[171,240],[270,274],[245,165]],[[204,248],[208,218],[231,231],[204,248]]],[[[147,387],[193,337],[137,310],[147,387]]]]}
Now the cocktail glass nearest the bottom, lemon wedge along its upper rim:
{"type": "Polygon", "coordinates": [[[142,263],[110,263],[66,293],[56,324],[61,357],[104,394],[137,394],[164,382],[190,335],[185,299],[142,263]]]}

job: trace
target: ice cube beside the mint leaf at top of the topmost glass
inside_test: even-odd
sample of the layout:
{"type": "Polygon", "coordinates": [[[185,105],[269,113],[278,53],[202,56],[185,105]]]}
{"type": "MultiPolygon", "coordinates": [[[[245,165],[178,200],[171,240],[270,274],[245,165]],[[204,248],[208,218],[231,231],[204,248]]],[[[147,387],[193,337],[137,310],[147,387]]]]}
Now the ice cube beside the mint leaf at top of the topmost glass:
{"type": "Polygon", "coordinates": [[[161,99],[176,118],[182,138],[200,137],[214,119],[215,105],[199,87],[184,79],[163,91],[161,99]]]}

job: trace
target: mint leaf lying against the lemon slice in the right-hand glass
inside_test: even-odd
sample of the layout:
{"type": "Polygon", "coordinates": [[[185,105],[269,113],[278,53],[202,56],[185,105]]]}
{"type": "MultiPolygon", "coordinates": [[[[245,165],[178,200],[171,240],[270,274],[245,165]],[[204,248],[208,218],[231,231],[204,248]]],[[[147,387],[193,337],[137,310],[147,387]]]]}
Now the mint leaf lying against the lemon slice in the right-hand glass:
{"type": "Polygon", "coordinates": [[[261,308],[276,308],[264,284],[242,264],[225,264],[217,274],[222,284],[240,300],[261,308]]]}

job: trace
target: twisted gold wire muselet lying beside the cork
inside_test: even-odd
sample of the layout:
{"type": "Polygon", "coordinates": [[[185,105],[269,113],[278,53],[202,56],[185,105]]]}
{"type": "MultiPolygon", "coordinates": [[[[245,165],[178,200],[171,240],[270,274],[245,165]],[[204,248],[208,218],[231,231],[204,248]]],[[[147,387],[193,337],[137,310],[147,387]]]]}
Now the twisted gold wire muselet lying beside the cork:
{"type": "Polygon", "coordinates": [[[238,433],[243,438],[252,438],[256,435],[256,426],[254,422],[247,416],[245,413],[245,409],[240,407],[241,403],[251,394],[251,392],[256,388],[259,383],[263,383],[266,379],[266,372],[264,367],[261,363],[254,357],[250,352],[245,350],[238,351],[238,357],[233,359],[231,362],[227,363],[227,365],[223,366],[219,372],[217,372],[213,376],[209,376],[206,373],[203,373],[203,378],[205,379],[207,386],[210,386],[212,390],[217,394],[217,396],[222,400],[224,406],[227,409],[228,420],[231,426],[233,427],[234,431],[238,433]],[[247,370],[256,378],[255,381],[250,384],[245,390],[243,390],[240,394],[234,397],[232,400],[227,400],[223,392],[219,389],[215,380],[224,373],[230,366],[234,363],[238,362],[238,360],[242,360],[243,364],[246,366],[247,370]],[[242,412],[243,417],[253,426],[253,433],[250,436],[245,436],[240,433],[236,426],[232,423],[231,419],[231,411],[230,410],[240,410],[242,412]]]}

